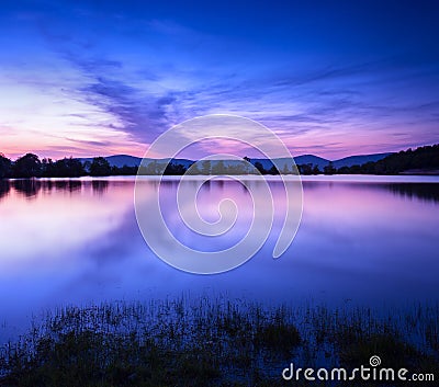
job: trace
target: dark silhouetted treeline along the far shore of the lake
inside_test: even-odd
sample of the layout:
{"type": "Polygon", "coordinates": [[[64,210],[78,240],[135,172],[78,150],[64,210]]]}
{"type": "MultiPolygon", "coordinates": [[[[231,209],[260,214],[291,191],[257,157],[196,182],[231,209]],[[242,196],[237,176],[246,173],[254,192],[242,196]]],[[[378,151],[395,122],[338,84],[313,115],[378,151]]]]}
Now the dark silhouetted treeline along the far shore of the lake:
{"type": "MultiPolygon", "coordinates": [[[[261,162],[254,163],[254,169],[248,169],[249,158],[243,162],[225,166],[223,161],[212,163],[204,160],[201,166],[192,164],[189,168],[176,162],[169,164],[155,160],[140,167],[115,167],[110,166],[103,157],[95,157],[92,161],[81,162],[78,159],[65,158],[53,161],[43,159],[36,155],[27,153],[14,162],[0,153],[0,179],[9,178],[79,178],[83,175],[108,177],[108,175],[135,175],[139,174],[167,174],[181,175],[190,174],[248,174],[259,171],[261,174],[292,174],[296,173],[291,166],[284,164],[279,171],[273,164],[263,167],[261,162]]],[[[392,153],[379,161],[370,161],[361,166],[335,168],[331,162],[324,167],[308,163],[297,166],[301,174],[399,174],[399,173],[432,173],[439,174],[439,145],[419,147],[415,150],[402,150],[392,153]]]]}

